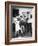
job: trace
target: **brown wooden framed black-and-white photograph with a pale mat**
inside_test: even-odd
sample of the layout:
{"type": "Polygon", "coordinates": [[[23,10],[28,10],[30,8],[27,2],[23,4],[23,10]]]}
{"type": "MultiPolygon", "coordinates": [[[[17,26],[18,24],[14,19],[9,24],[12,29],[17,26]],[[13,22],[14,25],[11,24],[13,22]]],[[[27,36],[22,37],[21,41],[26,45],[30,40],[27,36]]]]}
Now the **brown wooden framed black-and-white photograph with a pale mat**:
{"type": "Polygon", "coordinates": [[[37,4],[5,2],[5,44],[37,42],[37,4]]]}

